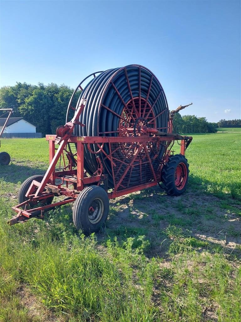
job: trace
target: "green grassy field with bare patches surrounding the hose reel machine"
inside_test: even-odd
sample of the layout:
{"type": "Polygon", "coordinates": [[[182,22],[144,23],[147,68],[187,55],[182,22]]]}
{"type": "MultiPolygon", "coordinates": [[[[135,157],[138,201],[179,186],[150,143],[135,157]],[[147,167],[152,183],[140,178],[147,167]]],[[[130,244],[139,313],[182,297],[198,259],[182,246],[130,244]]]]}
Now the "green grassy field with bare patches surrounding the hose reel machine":
{"type": "Polygon", "coordinates": [[[239,322],[240,150],[239,133],[194,135],[182,196],[156,186],[111,200],[106,226],[85,237],[72,204],[7,225],[21,183],[47,169],[48,143],[2,139],[0,321],[239,322]]]}

